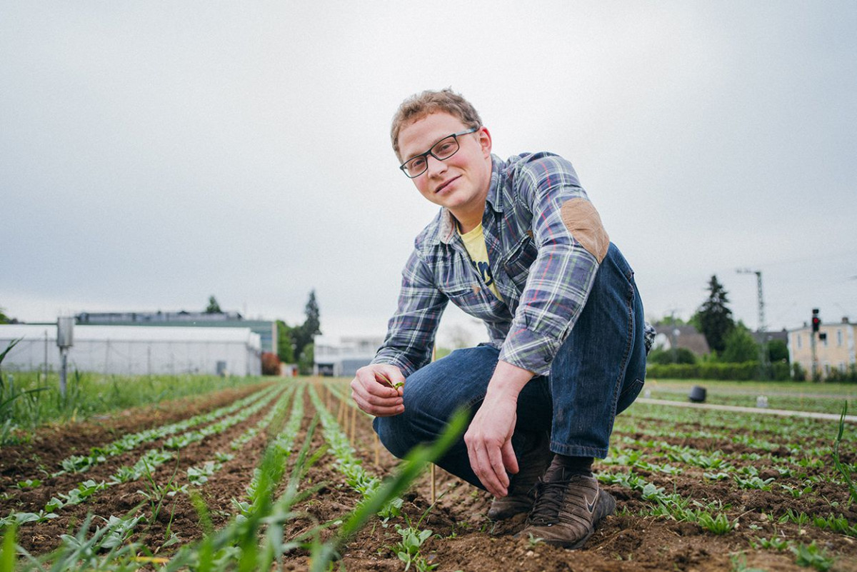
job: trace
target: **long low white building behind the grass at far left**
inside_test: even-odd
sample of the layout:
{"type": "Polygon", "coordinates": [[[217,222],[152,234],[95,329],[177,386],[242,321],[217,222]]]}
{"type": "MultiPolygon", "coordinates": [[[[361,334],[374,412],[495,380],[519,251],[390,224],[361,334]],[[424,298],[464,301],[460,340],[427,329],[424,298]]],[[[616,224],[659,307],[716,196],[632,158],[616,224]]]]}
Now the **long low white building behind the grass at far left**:
{"type": "MultiPolygon", "coordinates": [[[[0,366],[57,371],[57,325],[0,325],[0,352],[20,339],[0,366]]],[[[259,334],[249,328],[75,325],[69,370],[125,375],[261,374],[259,334]]]]}

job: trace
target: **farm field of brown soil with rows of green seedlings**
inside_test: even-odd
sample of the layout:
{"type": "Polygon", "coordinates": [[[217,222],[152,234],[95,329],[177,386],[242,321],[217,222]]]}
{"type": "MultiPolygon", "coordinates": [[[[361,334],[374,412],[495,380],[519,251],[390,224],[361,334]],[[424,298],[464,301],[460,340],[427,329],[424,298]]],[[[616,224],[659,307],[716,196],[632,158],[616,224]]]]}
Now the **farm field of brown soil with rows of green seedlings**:
{"type": "MultiPolygon", "coordinates": [[[[33,556],[16,557],[19,568],[58,550],[57,570],[238,569],[246,542],[199,541],[254,521],[264,498],[280,503],[253,545],[283,552],[282,569],[328,569],[321,543],[353,524],[351,511],[399,464],[349,393],[346,379],[278,379],[49,426],[3,447],[0,570],[13,522],[33,556]],[[285,468],[281,480],[256,470],[266,455],[285,468]]],[[[523,519],[489,521],[488,494],[437,469],[434,482],[423,473],[379,506],[332,569],[857,571],[857,426],[840,429],[636,403],[596,462],[619,512],[583,549],[512,538],[523,519]]]]}

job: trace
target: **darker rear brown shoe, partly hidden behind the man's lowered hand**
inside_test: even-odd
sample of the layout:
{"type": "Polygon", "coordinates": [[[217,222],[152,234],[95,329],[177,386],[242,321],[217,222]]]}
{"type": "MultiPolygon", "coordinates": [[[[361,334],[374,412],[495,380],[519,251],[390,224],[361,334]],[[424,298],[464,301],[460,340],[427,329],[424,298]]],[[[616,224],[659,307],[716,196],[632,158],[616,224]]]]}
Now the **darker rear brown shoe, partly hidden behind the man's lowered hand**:
{"type": "Polygon", "coordinates": [[[539,433],[536,444],[524,451],[518,461],[518,474],[509,482],[509,494],[495,497],[488,509],[492,521],[505,521],[514,515],[530,512],[536,501],[536,484],[554,458],[550,452],[548,432],[539,433]]]}

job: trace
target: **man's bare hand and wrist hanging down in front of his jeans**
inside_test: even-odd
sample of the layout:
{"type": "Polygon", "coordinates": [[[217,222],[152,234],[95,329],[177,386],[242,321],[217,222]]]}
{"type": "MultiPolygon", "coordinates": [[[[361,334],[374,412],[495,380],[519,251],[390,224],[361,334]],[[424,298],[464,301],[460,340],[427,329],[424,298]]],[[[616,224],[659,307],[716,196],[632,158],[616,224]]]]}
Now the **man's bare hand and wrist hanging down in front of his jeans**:
{"type": "Polygon", "coordinates": [[[512,433],[518,420],[518,393],[532,377],[533,372],[498,361],[482,406],[464,433],[470,467],[494,497],[508,494],[506,471],[518,473],[512,433]]]}

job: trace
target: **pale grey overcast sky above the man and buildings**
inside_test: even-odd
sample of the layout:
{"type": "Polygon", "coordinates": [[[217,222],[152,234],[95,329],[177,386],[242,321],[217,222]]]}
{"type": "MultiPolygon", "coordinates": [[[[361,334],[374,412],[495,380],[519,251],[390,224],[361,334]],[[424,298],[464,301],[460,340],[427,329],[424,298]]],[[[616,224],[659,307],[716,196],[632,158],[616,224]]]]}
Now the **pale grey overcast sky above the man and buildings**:
{"type": "MultiPolygon", "coordinates": [[[[378,334],[434,216],[389,144],[452,86],[569,158],[646,315],[857,320],[857,3],[0,3],[0,307],[378,334]]],[[[455,313],[452,325],[475,327],[455,313]]],[[[475,331],[482,334],[481,327],[475,331]]]]}

